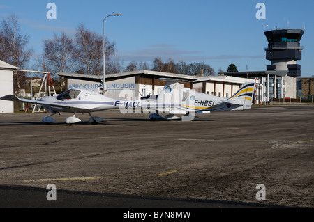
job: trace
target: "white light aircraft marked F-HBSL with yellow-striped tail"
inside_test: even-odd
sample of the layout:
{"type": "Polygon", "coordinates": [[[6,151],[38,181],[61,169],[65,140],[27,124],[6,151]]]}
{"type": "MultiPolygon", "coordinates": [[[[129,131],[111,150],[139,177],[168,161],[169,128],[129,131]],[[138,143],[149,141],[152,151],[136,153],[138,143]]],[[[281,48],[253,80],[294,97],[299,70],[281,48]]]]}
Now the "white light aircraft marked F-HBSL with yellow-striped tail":
{"type": "Polygon", "coordinates": [[[142,106],[142,109],[149,106],[149,109],[156,111],[149,116],[152,120],[193,120],[195,113],[245,110],[252,106],[255,83],[246,82],[232,97],[224,98],[184,89],[184,85],[175,79],[164,80],[167,83],[156,100],[148,98],[148,105],[142,106]],[[159,113],[167,115],[162,117],[159,113]]]}

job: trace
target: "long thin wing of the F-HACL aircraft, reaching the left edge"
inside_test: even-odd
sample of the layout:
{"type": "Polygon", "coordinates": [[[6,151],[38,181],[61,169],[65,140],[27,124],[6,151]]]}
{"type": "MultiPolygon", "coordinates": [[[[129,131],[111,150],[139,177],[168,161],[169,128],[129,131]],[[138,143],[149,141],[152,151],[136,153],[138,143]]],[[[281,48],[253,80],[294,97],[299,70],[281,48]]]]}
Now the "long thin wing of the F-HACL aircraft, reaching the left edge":
{"type": "Polygon", "coordinates": [[[80,106],[77,106],[77,104],[62,104],[61,102],[45,102],[42,100],[27,100],[27,99],[20,99],[16,95],[5,95],[3,97],[0,97],[0,100],[8,100],[8,101],[15,101],[15,102],[29,102],[32,104],[40,104],[43,106],[57,106],[61,108],[74,108],[74,109],[90,109],[89,107],[82,107],[82,104],[80,106]]]}

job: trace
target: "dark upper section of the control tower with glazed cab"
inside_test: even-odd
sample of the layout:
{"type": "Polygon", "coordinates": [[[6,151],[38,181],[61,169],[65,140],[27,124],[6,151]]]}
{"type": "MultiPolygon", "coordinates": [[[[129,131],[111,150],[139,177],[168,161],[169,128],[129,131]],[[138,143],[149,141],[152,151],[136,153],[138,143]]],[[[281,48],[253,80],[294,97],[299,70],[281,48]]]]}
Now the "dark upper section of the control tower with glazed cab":
{"type": "Polygon", "coordinates": [[[265,48],[266,59],[271,61],[267,65],[267,70],[288,70],[287,76],[301,76],[301,65],[297,60],[301,60],[300,45],[303,29],[276,29],[265,31],[268,47],[265,48]]]}

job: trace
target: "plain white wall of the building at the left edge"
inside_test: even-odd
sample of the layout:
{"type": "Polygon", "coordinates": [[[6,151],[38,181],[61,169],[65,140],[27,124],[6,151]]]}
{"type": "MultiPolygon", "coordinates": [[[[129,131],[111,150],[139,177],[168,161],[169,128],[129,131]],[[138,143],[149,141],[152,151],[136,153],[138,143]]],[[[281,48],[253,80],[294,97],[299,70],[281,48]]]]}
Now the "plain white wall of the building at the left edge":
{"type": "MultiPolygon", "coordinates": [[[[13,94],[13,71],[0,70],[0,97],[8,94],[13,94]]],[[[0,100],[0,113],[13,112],[13,102],[0,100]]]]}

